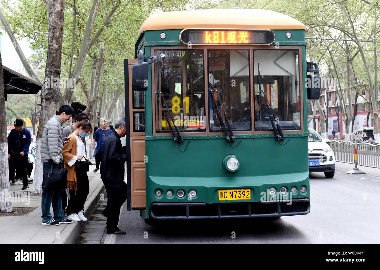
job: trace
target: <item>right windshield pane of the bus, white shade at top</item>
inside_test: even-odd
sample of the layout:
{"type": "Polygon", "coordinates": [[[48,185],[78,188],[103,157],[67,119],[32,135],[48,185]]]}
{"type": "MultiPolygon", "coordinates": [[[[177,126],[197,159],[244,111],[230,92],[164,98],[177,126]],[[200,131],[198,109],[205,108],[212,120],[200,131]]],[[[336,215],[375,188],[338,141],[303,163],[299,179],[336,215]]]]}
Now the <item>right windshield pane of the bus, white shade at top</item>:
{"type": "Polygon", "coordinates": [[[264,91],[282,130],[301,129],[298,50],[255,50],[255,130],[271,130],[268,108],[259,96],[258,84],[264,91]],[[258,65],[259,64],[259,65],[258,65]],[[260,66],[260,78],[258,76],[260,66]]]}

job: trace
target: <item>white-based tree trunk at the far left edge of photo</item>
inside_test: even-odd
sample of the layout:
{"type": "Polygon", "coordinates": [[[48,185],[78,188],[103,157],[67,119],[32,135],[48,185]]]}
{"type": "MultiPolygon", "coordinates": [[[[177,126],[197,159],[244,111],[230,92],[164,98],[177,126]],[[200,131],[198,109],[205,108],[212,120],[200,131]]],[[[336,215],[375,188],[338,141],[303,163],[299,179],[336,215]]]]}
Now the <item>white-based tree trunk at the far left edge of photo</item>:
{"type": "Polygon", "coordinates": [[[8,144],[6,137],[6,115],[5,115],[5,95],[4,95],[4,74],[0,55],[0,212],[11,213],[12,202],[11,189],[9,186],[8,167],[8,144]]]}

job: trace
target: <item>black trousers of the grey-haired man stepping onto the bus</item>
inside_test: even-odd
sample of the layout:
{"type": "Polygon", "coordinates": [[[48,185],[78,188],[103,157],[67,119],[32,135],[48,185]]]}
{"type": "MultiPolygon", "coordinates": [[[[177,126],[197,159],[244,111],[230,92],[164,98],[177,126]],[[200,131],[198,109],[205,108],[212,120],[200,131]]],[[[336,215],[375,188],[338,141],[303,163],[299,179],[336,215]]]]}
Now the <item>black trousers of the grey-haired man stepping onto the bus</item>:
{"type": "Polygon", "coordinates": [[[120,207],[123,205],[127,199],[127,184],[123,183],[122,188],[115,188],[113,186],[105,185],[108,203],[106,207],[105,214],[107,217],[107,232],[117,231],[119,228],[119,215],[120,207]]]}

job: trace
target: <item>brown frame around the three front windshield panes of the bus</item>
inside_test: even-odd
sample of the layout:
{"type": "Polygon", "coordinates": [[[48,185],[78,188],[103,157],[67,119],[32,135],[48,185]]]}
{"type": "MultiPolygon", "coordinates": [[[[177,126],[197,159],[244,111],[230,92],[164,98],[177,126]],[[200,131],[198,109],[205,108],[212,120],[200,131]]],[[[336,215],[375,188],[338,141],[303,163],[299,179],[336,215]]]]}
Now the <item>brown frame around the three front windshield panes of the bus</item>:
{"type": "MultiPolygon", "coordinates": [[[[254,118],[254,109],[253,109],[253,106],[252,104],[254,104],[254,66],[253,66],[253,51],[255,49],[268,49],[268,50],[276,50],[276,49],[288,49],[288,50],[297,50],[298,49],[298,59],[299,59],[299,66],[298,66],[298,69],[299,69],[299,95],[300,95],[300,100],[302,100],[301,102],[301,107],[300,107],[300,117],[301,117],[301,129],[299,130],[286,130],[286,131],[283,131],[283,134],[300,134],[300,133],[304,133],[304,119],[303,119],[303,115],[304,115],[304,112],[303,112],[303,108],[304,108],[304,99],[303,99],[303,95],[304,95],[304,84],[303,84],[303,73],[302,73],[302,47],[301,46],[242,46],[242,45],[239,45],[239,46],[226,46],[226,45],[207,45],[207,46],[204,46],[204,45],[194,45],[191,49],[203,49],[204,53],[203,53],[203,63],[204,63],[204,78],[205,78],[205,83],[204,83],[204,94],[205,94],[205,116],[204,116],[204,122],[205,122],[205,125],[206,125],[206,128],[205,128],[205,131],[180,131],[181,135],[182,136],[206,136],[206,135],[215,135],[215,136],[219,136],[219,135],[224,135],[223,132],[217,132],[217,131],[210,131],[210,127],[209,127],[209,115],[208,115],[208,111],[209,111],[209,108],[208,108],[208,101],[207,101],[207,98],[208,98],[208,87],[207,87],[207,82],[206,82],[206,79],[207,79],[207,76],[208,76],[208,49],[218,49],[218,50],[223,50],[223,49],[226,49],[226,50],[243,50],[243,49],[249,49],[249,56],[250,56],[250,66],[253,67],[253,68],[250,68],[250,71],[249,71],[249,76],[250,76],[250,99],[251,99],[251,128],[250,130],[246,130],[246,131],[233,131],[234,134],[236,135],[245,135],[245,134],[274,134],[274,132],[272,130],[268,130],[268,131],[255,131],[255,118],[254,118]],[[302,82],[302,84],[301,84],[302,82]]],[[[154,55],[154,51],[155,50],[191,50],[189,49],[187,46],[152,46],[150,48],[150,55],[154,55]]],[[[158,132],[156,131],[156,121],[157,121],[157,107],[158,107],[158,102],[157,102],[157,97],[155,95],[155,91],[156,91],[156,83],[155,83],[155,65],[154,65],[154,62],[151,64],[151,70],[152,70],[152,77],[151,77],[151,82],[152,82],[152,135],[153,136],[172,136],[172,134],[170,133],[170,131],[168,132],[158,132]]]]}

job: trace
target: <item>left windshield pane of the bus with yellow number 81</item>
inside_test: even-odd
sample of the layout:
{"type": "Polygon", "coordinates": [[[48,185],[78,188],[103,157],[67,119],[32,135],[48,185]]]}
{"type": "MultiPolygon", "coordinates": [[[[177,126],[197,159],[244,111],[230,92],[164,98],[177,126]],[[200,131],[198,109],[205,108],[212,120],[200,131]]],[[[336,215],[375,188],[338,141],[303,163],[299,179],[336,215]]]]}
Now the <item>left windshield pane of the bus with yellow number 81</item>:
{"type": "MultiPolygon", "coordinates": [[[[160,77],[158,90],[163,93],[180,131],[206,131],[203,53],[203,49],[154,51],[155,78],[160,77]]],[[[156,131],[168,132],[170,127],[164,115],[168,112],[156,108],[156,131]]]]}

